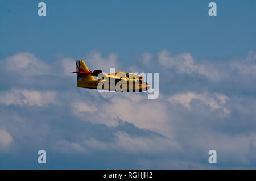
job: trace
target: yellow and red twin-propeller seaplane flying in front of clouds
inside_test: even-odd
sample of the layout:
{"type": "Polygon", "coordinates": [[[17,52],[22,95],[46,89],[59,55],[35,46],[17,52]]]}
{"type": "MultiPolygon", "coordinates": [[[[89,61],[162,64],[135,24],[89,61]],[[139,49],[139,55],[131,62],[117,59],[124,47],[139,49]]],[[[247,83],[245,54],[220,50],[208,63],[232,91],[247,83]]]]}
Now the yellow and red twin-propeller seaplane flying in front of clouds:
{"type": "Polygon", "coordinates": [[[150,88],[138,74],[118,71],[104,74],[101,70],[88,69],[83,60],[76,60],[77,87],[100,90],[113,90],[116,92],[143,92],[150,88]],[[95,79],[94,77],[97,77],[95,79]]]}

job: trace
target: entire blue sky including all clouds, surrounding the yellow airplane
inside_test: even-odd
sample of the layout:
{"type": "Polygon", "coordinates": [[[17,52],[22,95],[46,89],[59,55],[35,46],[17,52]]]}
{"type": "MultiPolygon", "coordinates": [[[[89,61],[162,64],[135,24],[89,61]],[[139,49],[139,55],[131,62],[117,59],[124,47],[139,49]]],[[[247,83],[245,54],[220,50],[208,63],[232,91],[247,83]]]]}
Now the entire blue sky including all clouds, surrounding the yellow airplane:
{"type": "Polygon", "coordinates": [[[0,3],[1,169],[256,168],[255,1],[39,2],[0,3]],[[77,59],[159,98],[79,89],[77,59]]]}

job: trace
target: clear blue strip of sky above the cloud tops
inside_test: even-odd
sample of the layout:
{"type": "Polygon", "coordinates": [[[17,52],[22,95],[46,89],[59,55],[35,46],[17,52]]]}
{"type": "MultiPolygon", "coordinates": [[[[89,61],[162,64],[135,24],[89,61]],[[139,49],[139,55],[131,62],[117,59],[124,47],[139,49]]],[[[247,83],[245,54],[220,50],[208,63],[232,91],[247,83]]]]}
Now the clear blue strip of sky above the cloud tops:
{"type": "Polygon", "coordinates": [[[118,52],[123,61],[170,49],[194,56],[246,56],[255,50],[255,1],[2,1],[1,57],[30,51],[51,61],[58,52],[79,58],[92,49],[118,52]],[[232,42],[232,43],[231,43],[232,42]]]}

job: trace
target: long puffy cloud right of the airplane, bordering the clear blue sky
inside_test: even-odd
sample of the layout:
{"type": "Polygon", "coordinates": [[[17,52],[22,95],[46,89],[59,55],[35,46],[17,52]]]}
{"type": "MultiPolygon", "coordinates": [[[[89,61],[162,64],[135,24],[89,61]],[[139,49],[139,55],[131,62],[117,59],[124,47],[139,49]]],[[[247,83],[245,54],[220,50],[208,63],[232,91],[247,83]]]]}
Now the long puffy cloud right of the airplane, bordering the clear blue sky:
{"type": "MultiPolygon", "coordinates": [[[[256,77],[256,53],[249,52],[241,60],[230,58],[225,61],[195,61],[190,53],[172,55],[168,50],[158,53],[158,62],[164,69],[174,69],[177,73],[198,73],[213,82],[238,81],[256,77]]],[[[243,81],[242,81],[243,82],[243,81]]]]}

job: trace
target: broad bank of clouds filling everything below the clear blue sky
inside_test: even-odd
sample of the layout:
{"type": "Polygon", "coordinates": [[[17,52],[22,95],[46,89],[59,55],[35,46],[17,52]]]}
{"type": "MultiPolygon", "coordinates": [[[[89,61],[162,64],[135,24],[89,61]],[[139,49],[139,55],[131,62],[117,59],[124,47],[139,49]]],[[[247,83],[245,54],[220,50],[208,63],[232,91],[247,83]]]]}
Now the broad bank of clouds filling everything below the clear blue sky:
{"type": "MultiPolygon", "coordinates": [[[[126,70],[115,53],[93,50],[84,59],[91,70],[126,70]]],[[[79,89],[72,57],[46,62],[21,52],[0,60],[0,151],[29,160],[28,149],[45,149],[55,155],[50,169],[255,169],[254,52],[197,60],[162,50],[137,62],[134,69],[159,72],[158,99],[79,89]],[[208,163],[211,149],[217,165],[208,163]]]]}

